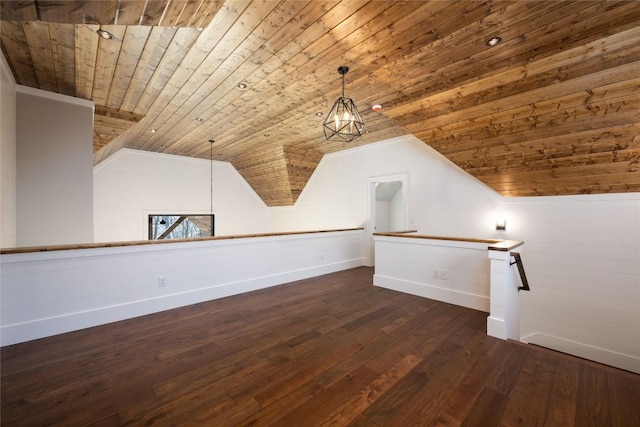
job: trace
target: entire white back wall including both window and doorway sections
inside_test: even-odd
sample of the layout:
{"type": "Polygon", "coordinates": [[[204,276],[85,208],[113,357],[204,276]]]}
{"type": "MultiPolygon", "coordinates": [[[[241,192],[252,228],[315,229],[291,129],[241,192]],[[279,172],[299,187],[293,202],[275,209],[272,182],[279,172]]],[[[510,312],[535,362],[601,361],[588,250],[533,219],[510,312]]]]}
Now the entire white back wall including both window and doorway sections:
{"type": "MultiPolygon", "coordinates": [[[[402,173],[409,175],[410,227],[501,237],[491,216],[500,196],[412,136],[325,156],[295,206],[267,207],[230,164],[214,162],[216,234],[363,227],[367,180],[402,173]]],[[[148,213],[208,213],[209,177],[208,160],[120,150],[94,169],[96,242],[146,239],[148,213]]]]}

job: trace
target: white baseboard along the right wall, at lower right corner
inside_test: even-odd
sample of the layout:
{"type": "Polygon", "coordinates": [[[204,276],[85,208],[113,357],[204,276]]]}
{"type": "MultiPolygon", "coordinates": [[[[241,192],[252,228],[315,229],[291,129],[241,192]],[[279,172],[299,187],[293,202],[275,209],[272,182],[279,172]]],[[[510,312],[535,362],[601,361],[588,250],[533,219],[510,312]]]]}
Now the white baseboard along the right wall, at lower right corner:
{"type": "Polygon", "coordinates": [[[596,347],[542,332],[534,332],[526,335],[520,338],[520,341],[640,374],[640,357],[638,356],[622,354],[606,348],[596,347]]]}

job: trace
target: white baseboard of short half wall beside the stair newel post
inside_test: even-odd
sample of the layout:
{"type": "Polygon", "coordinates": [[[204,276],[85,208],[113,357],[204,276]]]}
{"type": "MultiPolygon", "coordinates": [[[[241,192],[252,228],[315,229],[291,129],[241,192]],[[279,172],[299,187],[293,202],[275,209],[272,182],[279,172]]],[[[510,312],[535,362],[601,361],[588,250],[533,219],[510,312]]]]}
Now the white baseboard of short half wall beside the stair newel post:
{"type": "Polygon", "coordinates": [[[417,283],[394,277],[382,276],[380,274],[374,274],[373,284],[375,286],[392,289],[394,291],[443,301],[450,304],[460,305],[462,307],[473,308],[474,310],[480,310],[487,313],[489,312],[489,297],[484,295],[460,292],[426,283],[417,283]]]}

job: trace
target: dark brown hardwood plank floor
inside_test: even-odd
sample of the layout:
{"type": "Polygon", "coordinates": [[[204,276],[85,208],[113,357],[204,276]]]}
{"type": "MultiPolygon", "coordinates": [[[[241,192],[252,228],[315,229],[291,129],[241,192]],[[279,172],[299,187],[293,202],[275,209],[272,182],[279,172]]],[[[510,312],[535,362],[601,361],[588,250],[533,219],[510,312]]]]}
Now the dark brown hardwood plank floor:
{"type": "Polygon", "coordinates": [[[2,348],[2,426],[639,426],[640,375],[357,268],[2,348]]]}

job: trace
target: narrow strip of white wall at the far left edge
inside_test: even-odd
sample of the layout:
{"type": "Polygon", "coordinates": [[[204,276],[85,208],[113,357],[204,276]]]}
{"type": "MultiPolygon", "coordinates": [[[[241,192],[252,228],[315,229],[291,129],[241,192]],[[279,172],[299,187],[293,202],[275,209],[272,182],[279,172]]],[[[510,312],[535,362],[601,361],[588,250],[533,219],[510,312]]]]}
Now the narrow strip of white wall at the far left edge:
{"type": "Polygon", "coordinates": [[[16,82],[0,53],[0,247],[16,246],[16,82]]]}

